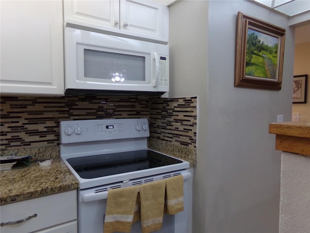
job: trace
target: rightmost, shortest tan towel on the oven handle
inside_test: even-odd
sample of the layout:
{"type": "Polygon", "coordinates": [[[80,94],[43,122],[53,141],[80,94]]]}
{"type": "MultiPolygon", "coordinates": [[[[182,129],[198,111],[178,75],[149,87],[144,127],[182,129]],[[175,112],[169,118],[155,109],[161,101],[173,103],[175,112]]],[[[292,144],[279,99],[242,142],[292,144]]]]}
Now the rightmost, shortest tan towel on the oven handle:
{"type": "Polygon", "coordinates": [[[167,213],[174,215],[184,210],[183,176],[166,179],[167,213]]]}

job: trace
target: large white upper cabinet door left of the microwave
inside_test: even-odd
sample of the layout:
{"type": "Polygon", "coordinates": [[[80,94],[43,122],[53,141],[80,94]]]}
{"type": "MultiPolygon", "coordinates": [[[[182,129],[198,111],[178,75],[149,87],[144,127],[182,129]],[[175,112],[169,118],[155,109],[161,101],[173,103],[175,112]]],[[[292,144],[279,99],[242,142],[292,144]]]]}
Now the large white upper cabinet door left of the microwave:
{"type": "Polygon", "coordinates": [[[60,0],[0,1],[0,91],[64,94],[60,0]]]}

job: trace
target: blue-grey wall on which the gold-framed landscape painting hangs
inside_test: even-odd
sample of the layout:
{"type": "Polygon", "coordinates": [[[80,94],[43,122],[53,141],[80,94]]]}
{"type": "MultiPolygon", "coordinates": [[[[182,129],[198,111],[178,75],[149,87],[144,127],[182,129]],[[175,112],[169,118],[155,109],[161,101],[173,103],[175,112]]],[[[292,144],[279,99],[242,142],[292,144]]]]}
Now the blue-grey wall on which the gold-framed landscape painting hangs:
{"type": "Polygon", "coordinates": [[[279,231],[280,152],[268,124],[291,120],[294,29],[249,1],[209,1],[208,232],[279,231]],[[237,12],[286,28],[281,91],[233,87],[237,12]]]}

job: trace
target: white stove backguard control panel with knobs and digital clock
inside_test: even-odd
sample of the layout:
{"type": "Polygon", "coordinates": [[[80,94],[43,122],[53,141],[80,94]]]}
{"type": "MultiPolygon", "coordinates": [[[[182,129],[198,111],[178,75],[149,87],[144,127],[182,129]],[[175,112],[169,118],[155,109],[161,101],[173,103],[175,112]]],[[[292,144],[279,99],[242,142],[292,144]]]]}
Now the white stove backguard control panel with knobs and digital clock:
{"type": "Polygon", "coordinates": [[[99,119],[60,122],[61,143],[150,136],[148,119],[99,119]]]}

